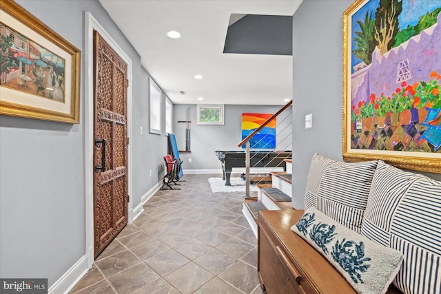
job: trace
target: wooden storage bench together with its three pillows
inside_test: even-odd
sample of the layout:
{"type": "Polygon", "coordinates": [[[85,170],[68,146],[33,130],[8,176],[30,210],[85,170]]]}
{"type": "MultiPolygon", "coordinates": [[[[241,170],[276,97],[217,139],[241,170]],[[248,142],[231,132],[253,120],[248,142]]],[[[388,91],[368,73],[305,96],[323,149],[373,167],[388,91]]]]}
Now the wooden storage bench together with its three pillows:
{"type": "Polygon", "coordinates": [[[260,282],[280,293],[271,255],[293,293],[440,294],[440,219],[441,182],[382,160],[314,154],[305,211],[260,212],[260,282]]]}

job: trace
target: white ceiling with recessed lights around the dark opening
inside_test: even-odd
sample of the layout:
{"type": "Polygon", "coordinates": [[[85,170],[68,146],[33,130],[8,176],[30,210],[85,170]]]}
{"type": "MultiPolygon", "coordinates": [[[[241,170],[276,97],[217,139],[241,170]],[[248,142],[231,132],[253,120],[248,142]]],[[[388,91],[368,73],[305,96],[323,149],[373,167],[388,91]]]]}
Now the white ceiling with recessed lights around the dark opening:
{"type": "Polygon", "coordinates": [[[223,54],[223,48],[230,14],[292,16],[301,0],[100,2],[173,103],[284,105],[285,98],[291,100],[292,56],[223,54]],[[168,38],[170,30],[181,38],[168,38]],[[196,80],[195,74],[203,78],[196,80]]]}

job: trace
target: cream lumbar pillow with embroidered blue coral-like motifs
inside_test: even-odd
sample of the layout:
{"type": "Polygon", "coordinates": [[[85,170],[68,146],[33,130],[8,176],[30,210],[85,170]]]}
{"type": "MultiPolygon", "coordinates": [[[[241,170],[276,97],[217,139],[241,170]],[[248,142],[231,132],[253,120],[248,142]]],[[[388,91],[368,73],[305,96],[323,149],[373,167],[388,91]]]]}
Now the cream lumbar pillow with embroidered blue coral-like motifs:
{"type": "Polygon", "coordinates": [[[315,207],[291,230],[325,256],[358,293],[386,293],[402,264],[400,251],[347,229],[315,207]]]}

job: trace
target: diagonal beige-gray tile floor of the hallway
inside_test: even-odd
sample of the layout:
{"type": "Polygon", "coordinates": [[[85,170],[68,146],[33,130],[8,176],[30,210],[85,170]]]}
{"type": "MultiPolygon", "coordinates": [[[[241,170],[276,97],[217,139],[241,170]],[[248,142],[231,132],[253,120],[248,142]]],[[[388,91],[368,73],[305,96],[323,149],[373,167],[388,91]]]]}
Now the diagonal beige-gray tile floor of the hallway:
{"type": "Polygon", "coordinates": [[[212,193],[211,176],[157,191],[71,293],[262,294],[244,193],[212,193]]]}

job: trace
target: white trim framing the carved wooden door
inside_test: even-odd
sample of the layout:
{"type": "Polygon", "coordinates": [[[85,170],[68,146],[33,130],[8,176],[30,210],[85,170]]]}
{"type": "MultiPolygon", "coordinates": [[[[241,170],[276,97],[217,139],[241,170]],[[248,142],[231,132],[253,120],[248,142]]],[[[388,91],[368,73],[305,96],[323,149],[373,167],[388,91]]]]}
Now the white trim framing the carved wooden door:
{"type": "MultiPolygon", "coordinates": [[[[112,39],[104,28],[90,14],[85,12],[85,97],[83,99],[85,105],[84,112],[84,149],[85,149],[85,255],[88,260],[88,267],[91,268],[94,262],[94,179],[93,179],[93,145],[94,145],[94,83],[93,83],[93,31],[96,30],[103,36],[103,39],[121,56],[127,63],[127,79],[129,86],[127,87],[127,136],[132,137],[132,60],[123,52],[119,45],[112,39]]],[[[127,193],[132,195],[132,145],[127,148],[128,151],[128,169],[127,169],[127,193]]],[[[132,222],[132,201],[127,204],[127,222],[132,222]]]]}

